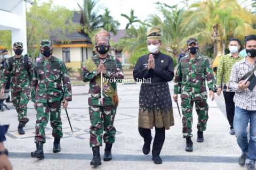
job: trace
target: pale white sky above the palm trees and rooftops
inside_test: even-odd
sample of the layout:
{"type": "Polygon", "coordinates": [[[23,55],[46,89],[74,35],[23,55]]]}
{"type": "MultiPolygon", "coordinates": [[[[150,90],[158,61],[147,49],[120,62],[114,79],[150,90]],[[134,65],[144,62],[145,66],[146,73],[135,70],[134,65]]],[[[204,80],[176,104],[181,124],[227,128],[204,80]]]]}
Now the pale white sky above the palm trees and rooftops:
{"type": "MultiPolygon", "coordinates": [[[[125,29],[128,20],[121,16],[122,13],[130,16],[130,11],[133,9],[134,15],[144,21],[150,14],[157,13],[157,5],[154,3],[158,1],[168,5],[175,5],[181,4],[183,0],[99,0],[99,10],[102,13],[105,8],[108,8],[110,15],[121,24],[119,29],[125,29]]],[[[47,0],[39,2],[47,2],[47,0]]],[[[65,6],[69,10],[79,9],[76,2],[83,5],[83,0],[53,0],[55,5],[65,6]]]]}

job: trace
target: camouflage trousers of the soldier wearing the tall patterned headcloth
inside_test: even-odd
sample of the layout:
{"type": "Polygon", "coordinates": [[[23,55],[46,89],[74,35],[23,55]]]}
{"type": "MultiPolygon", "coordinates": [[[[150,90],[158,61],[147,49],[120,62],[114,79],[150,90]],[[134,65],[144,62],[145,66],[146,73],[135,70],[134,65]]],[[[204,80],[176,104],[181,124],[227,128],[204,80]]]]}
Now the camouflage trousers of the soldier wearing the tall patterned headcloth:
{"type": "Polygon", "coordinates": [[[89,106],[90,147],[102,146],[102,134],[105,143],[114,143],[116,129],[114,119],[116,106],[89,106]]]}

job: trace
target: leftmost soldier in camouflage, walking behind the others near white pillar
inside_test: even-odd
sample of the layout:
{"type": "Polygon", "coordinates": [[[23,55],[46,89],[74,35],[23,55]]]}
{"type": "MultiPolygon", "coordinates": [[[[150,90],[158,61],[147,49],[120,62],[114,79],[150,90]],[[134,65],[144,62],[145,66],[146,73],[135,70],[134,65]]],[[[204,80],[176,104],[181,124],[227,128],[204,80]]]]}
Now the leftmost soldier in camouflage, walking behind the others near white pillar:
{"type": "Polygon", "coordinates": [[[15,56],[6,60],[2,79],[1,79],[1,95],[4,94],[4,87],[7,81],[11,80],[12,103],[18,113],[18,133],[25,134],[23,130],[29,121],[27,117],[27,104],[30,96],[30,81],[33,77],[34,66],[33,61],[21,55],[23,52],[23,44],[16,42],[13,44],[15,56]]]}

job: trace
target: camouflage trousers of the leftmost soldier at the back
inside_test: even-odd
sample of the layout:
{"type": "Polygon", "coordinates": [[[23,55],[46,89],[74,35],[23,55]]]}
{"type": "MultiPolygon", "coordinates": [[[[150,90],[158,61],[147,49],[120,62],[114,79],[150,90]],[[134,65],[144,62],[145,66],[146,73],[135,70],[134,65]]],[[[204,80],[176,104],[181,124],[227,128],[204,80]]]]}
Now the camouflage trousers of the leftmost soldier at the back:
{"type": "Polygon", "coordinates": [[[18,121],[27,121],[27,104],[29,101],[30,90],[12,91],[12,103],[18,113],[18,121]]]}

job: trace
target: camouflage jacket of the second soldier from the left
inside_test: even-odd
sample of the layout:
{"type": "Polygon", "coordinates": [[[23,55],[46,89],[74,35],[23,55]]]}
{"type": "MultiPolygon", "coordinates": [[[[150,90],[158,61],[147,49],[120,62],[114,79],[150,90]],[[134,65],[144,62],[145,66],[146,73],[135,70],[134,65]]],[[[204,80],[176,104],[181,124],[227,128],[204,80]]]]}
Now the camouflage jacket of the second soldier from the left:
{"type": "Polygon", "coordinates": [[[47,103],[53,101],[71,101],[71,83],[66,65],[57,57],[50,60],[44,57],[35,63],[35,72],[31,82],[32,101],[47,103]]]}

